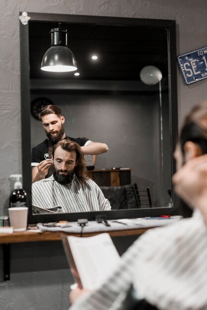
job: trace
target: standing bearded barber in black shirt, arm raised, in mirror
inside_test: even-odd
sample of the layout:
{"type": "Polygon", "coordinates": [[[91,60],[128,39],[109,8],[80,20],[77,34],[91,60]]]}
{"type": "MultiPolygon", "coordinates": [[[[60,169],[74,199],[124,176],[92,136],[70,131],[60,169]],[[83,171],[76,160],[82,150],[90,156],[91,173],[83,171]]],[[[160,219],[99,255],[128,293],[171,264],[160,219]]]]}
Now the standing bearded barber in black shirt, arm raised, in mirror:
{"type": "Polygon", "coordinates": [[[52,146],[58,141],[68,139],[80,145],[84,155],[100,155],[108,151],[104,143],[92,142],[88,138],[66,136],[63,124],[65,118],[59,107],[47,105],[39,114],[48,139],[32,149],[32,162],[38,163],[32,168],[32,182],[40,181],[52,175],[52,146]]]}

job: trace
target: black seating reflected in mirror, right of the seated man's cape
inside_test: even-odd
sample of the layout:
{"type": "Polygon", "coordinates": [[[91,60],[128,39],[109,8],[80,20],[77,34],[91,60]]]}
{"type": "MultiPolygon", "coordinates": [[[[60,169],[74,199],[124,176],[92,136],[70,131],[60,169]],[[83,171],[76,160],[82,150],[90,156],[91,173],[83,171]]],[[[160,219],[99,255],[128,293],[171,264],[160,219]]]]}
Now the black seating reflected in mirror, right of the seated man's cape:
{"type": "Polygon", "coordinates": [[[105,198],[109,200],[112,210],[152,207],[150,191],[146,199],[144,191],[138,191],[136,183],[122,186],[100,186],[100,188],[105,198]]]}

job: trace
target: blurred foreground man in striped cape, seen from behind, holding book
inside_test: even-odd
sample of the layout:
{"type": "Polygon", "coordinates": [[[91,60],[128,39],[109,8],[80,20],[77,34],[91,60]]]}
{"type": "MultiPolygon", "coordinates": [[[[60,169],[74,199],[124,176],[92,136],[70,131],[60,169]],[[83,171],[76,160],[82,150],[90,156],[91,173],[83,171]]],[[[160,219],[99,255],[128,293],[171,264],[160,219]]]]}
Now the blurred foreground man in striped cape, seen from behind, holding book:
{"type": "Polygon", "coordinates": [[[206,153],[207,102],[187,115],[174,153],[175,191],[193,216],[143,234],[101,287],[70,292],[70,310],[207,310],[206,153]]]}

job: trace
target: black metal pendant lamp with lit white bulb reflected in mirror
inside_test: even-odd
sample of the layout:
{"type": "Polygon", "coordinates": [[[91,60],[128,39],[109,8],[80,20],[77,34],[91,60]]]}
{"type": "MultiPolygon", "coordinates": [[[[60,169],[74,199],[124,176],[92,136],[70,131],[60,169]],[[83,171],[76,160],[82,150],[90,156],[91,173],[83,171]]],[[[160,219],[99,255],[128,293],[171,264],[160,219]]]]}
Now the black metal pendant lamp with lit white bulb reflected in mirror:
{"type": "Polygon", "coordinates": [[[75,56],[67,47],[68,32],[58,23],[58,28],[50,31],[51,47],[43,56],[41,70],[69,72],[77,70],[75,56]]]}

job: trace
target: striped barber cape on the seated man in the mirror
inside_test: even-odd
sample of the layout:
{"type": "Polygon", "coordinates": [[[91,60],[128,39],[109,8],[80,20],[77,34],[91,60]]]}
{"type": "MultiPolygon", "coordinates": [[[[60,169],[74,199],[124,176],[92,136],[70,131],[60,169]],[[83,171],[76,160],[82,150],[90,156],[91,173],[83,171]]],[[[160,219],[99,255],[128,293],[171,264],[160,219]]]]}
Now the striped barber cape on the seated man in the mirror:
{"type": "Polygon", "coordinates": [[[32,205],[44,208],[60,206],[63,212],[106,211],[111,206],[99,186],[91,179],[80,184],[74,176],[71,184],[61,185],[53,175],[32,184],[32,205]]]}

